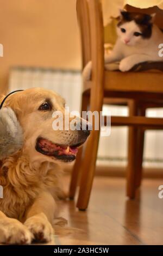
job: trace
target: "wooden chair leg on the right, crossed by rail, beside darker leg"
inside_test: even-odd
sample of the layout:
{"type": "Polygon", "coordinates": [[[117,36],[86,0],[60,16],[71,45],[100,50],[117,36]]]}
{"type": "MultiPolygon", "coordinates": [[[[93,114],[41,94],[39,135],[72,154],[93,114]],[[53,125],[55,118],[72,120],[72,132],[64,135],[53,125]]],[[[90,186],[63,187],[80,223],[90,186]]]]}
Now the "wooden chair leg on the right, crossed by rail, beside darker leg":
{"type": "MultiPolygon", "coordinates": [[[[129,101],[129,115],[137,115],[137,103],[129,101]]],[[[127,167],[127,196],[135,198],[136,178],[136,154],[137,154],[137,128],[129,127],[128,134],[128,167],[127,167]]]]}

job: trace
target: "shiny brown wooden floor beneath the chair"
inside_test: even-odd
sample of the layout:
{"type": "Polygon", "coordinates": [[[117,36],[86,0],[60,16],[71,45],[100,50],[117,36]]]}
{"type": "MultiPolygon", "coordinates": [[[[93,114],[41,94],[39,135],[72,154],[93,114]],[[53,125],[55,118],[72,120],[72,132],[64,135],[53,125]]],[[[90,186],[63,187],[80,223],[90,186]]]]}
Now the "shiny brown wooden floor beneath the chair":
{"type": "MultiPolygon", "coordinates": [[[[68,185],[67,179],[65,183],[68,185]]],[[[73,201],[61,203],[68,226],[83,229],[55,237],[58,245],[163,245],[163,180],[143,180],[135,200],[125,196],[123,178],[95,178],[89,209],[78,211],[73,201]]]]}

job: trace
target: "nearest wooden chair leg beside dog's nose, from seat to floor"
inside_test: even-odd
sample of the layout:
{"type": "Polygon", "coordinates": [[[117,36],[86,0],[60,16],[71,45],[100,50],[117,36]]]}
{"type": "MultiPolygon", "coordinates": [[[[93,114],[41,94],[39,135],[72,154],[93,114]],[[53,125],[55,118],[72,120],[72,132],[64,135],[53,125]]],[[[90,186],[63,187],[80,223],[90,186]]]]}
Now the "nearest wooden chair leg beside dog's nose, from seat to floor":
{"type": "MultiPolygon", "coordinates": [[[[100,74],[100,72],[98,73],[100,74]]],[[[98,80],[94,81],[93,89],[91,92],[90,98],[90,111],[93,113],[94,111],[98,111],[101,114],[102,106],[103,106],[103,89],[100,89],[99,92],[99,83],[103,84],[102,81],[98,80]],[[96,96],[96,100],[95,100],[96,96]]],[[[99,116],[100,117],[100,116],[99,116]]],[[[98,142],[99,142],[99,134],[100,134],[100,125],[99,129],[95,130],[95,116],[92,117],[92,131],[91,135],[87,140],[84,157],[82,159],[81,166],[81,177],[79,184],[79,196],[77,202],[77,208],[79,210],[86,210],[87,205],[89,204],[93,178],[95,175],[96,169],[96,160],[97,160],[97,151],[98,151],[98,142]]],[[[99,124],[100,121],[98,120],[99,124]]]]}

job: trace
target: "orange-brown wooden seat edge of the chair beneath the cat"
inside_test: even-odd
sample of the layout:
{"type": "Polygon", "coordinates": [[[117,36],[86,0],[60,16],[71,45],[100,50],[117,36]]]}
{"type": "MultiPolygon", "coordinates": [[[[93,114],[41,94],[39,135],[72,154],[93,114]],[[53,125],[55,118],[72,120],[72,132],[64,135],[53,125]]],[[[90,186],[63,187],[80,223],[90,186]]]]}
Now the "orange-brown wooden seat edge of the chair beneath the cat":
{"type": "MultiPolygon", "coordinates": [[[[143,100],[162,99],[163,100],[163,73],[153,71],[143,72],[104,72],[104,96],[125,97],[143,100]],[[145,97],[146,95],[146,97],[145,97]]],[[[84,82],[83,92],[89,93],[92,81],[84,82]]]]}

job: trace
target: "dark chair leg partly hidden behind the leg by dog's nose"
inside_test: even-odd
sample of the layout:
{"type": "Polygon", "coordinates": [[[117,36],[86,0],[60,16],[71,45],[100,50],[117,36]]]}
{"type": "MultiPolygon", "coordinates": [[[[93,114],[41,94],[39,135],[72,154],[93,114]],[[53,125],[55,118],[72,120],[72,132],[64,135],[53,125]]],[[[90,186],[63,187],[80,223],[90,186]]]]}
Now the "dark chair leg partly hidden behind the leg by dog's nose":
{"type": "MultiPolygon", "coordinates": [[[[82,111],[87,110],[89,101],[90,101],[89,96],[85,96],[85,95],[82,96],[82,111]]],[[[76,190],[77,190],[77,186],[78,186],[81,163],[82,163],[82,155],[83,155],[83,147],[79,148],[76,162],[74,163],[72,174],[71,174],[71,182],[70,182],[70,188],[69,188],[69,198],[71,200],[74,199],[74,196],[75,196],[76,190]]]]}

